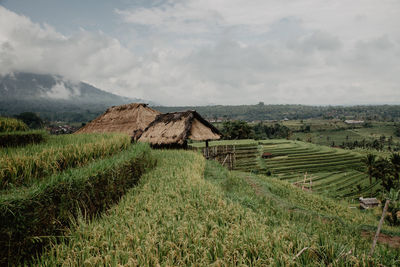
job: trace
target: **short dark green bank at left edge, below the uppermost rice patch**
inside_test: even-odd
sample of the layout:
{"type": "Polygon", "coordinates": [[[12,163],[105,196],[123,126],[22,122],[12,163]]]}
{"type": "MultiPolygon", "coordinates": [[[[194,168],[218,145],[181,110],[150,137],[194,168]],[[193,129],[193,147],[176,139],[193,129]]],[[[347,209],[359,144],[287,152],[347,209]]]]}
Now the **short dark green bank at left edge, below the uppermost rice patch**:
{"type": "Polygon", "coordinates": [[[43,131],[5,132],[0,133],[0,147],[16,147],[28,144],[38,144],[46,140],[47,133],[43,131]]]}

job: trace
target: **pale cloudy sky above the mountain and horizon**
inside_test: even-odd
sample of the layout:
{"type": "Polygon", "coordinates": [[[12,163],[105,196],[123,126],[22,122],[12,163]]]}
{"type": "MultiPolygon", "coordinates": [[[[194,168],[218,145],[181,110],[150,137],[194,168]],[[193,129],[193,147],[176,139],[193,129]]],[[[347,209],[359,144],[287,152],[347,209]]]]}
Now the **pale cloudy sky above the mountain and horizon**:
{"type": "Polygon", "coordinates": [[[0,74],[163,105],[400,104],[399,0],[0,0],[0,74]]]}

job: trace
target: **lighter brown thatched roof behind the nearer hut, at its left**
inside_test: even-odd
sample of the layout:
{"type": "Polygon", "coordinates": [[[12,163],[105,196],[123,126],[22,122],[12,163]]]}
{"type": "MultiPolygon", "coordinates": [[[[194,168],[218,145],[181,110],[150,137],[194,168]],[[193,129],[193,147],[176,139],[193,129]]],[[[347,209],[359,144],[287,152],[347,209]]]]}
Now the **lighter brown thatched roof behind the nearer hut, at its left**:
{"type": "Polygon", "coordinates": [[[117,132],[132,136],[136,131],[143,131],[158,114],[160,112],[142,103],[114,106],[76,133],[117,132]]]}

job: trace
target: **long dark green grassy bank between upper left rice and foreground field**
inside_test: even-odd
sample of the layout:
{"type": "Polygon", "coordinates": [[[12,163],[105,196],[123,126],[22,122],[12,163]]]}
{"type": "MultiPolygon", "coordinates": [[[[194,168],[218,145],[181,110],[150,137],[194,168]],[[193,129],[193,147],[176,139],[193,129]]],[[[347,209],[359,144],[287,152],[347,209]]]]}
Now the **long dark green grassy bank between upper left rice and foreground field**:
{"type": "Polygon", "coordinates": [[[0,196],[0,264],[30,257],[60,236],[79,214],[90,218],[116,203],[154,166],[150,148],[138,144],[84,168],[57,174],[29,188],[0,196]],[[12,253],[9,253],[12,251],[12,253]]]}

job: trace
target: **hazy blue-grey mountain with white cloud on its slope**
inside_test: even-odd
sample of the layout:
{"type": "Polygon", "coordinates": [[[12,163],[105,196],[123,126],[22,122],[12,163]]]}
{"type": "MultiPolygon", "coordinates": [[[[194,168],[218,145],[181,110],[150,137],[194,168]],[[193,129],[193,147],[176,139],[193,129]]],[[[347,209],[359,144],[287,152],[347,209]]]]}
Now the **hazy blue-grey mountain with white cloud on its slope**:
{"type": "Polygon", "coordinates": [[[60,75],[17,72],[0,76],[0,115],[36,112],[46,120],[85,122],[108,107],[147,102],[100,90],[60,75]]]}

